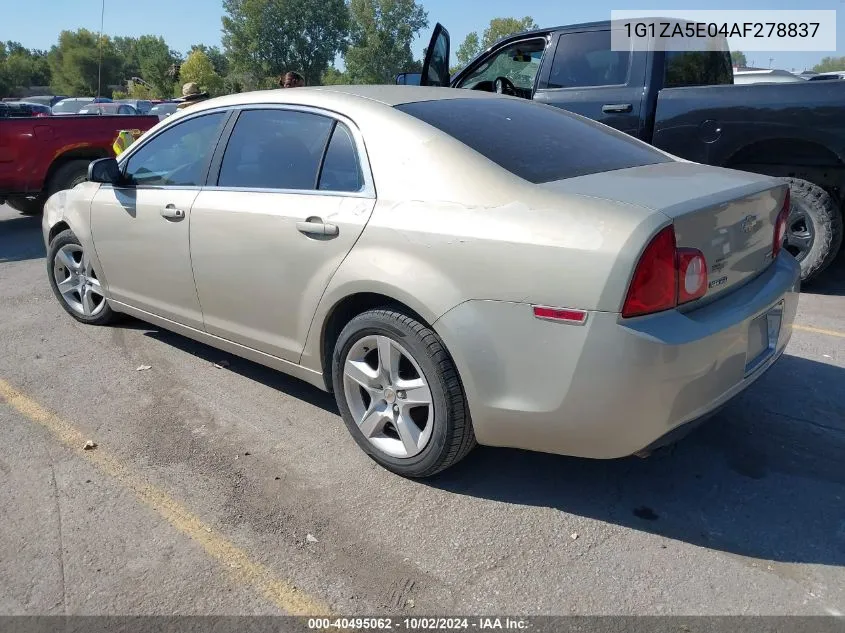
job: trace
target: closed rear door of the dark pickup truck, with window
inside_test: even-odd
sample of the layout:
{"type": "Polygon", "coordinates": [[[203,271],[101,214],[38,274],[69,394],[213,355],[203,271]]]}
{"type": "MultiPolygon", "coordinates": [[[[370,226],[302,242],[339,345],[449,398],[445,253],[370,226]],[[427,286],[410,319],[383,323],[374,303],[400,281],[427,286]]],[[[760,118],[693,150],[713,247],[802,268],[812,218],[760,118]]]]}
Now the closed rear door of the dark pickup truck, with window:
{"type": "Polygon", "coordinates": [[[612,50],[609,27],[557,37],[534,100],[640,136],[647,56],[612,50]]]}

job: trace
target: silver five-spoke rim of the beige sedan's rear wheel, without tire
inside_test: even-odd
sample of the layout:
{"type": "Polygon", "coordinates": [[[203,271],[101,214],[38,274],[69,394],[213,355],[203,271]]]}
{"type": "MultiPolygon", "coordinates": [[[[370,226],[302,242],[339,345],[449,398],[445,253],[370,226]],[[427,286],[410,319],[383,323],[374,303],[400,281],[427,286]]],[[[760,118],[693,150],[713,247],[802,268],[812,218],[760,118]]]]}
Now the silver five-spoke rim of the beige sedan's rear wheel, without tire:
{"type": "Polygon", "coordinates": [[[343,363],[346,403],[358,429],[387,455],[418,455],[431,439],[434,403],[419,364],[399,343],[364,336],[343,363]]]}

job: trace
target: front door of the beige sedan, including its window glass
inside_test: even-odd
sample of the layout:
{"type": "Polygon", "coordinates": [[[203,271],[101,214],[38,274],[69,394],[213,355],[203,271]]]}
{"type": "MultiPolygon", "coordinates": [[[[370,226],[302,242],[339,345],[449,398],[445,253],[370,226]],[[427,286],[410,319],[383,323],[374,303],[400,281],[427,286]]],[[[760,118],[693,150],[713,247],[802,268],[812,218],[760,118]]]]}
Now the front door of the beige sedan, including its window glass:
{"type": "Polygon", "coordinates": [[[125,184],[103,185],[94,196],[91,232],[109,298],[202,328],[189,226],[224,117],[193,117],[130,150],[125,184]]]}

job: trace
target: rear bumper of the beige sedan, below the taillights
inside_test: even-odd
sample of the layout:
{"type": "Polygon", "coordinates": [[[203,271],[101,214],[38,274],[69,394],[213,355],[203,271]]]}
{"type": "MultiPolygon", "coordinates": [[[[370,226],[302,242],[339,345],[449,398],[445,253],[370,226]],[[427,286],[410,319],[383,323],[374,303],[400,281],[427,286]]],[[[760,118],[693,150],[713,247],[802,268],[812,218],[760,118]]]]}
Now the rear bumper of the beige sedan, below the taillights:
{"type": "Polygon", "coordinates": [[[526,303],[467,301],[434,327],[460,372],[479,443],[616,458],[707,417],[765,373],[789,342],[799,284],[798,264],[784,254],[686,314],[591,312],[569,325],[534,318],[526,303]],[[752,323],[772,320],[779,327],[749,358],[758,349],[752,323]]]}

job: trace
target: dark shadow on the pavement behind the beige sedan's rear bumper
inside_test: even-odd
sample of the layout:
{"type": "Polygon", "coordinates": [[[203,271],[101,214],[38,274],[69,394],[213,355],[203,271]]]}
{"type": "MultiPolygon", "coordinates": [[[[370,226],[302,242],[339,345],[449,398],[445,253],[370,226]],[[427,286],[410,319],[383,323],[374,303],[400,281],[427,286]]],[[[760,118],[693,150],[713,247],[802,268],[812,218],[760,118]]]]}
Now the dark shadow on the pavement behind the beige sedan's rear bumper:
{"type": "Polygon", "coordinates": [[[422,483],[741,556],[841,566],[845,395],[832,392],[843,384],[845,369],[784,356],[669,454],[601,461],[480,447],[422,483]]]}

